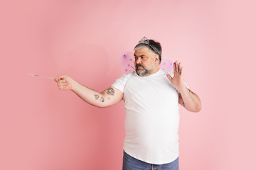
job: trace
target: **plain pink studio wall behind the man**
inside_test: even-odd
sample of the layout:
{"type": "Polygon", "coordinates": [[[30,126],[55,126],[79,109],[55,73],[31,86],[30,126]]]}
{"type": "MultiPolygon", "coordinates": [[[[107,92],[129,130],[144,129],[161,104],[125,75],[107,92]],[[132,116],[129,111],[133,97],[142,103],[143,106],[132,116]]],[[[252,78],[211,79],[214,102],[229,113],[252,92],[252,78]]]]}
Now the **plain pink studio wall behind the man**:
{"type": "Polygon", "coordinates": [[[0,169],[122,169],[124,108],[95,108],[51,79],[103,91],[146,35],[182,62],[200,113],[181,108],[180,169],[255,169],[255,13],[232,1],[1,1],[0,169]],[[252,90],[253,89],[253,90],[252,90]]]}

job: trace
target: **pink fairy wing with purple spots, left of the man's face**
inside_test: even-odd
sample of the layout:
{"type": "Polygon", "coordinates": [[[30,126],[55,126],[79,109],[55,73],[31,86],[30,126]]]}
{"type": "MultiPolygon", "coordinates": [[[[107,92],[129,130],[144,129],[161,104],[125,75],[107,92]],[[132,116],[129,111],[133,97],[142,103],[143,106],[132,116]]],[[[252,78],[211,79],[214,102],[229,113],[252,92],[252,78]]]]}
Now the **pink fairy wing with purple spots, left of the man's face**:
{"type": "Polygon", "coordinates": [[[120,56],[120,62],[122,64],[122,70],[125,74],[134,71],[134,53],[124,52],[120,56]]]}

